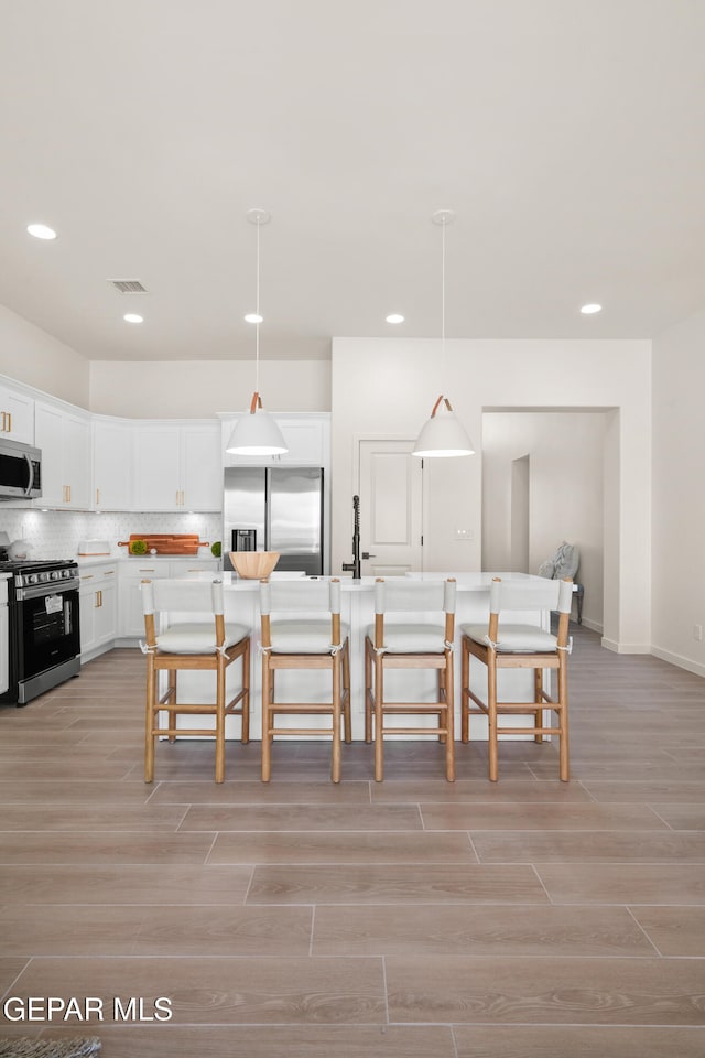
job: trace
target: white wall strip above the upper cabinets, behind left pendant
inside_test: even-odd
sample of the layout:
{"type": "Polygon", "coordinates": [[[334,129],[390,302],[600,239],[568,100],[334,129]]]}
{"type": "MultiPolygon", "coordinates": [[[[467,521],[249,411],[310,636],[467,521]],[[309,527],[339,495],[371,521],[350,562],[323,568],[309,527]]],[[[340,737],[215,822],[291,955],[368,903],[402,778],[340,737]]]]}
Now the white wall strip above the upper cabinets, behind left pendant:
{"type": "MultiPolygon", "coordinates": [[[[90,410],[128,419],[203,419],[250,407],[252,360],[93,360],[90,410]]],[[[327,360],[260,360],[267,411],[329,411],[327,360]]]]}

